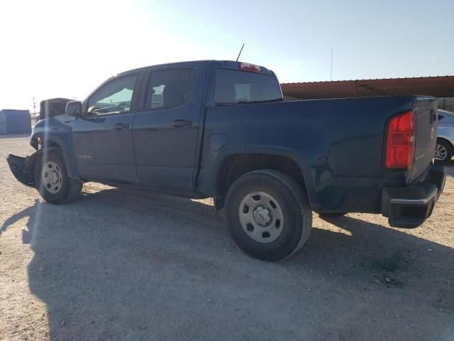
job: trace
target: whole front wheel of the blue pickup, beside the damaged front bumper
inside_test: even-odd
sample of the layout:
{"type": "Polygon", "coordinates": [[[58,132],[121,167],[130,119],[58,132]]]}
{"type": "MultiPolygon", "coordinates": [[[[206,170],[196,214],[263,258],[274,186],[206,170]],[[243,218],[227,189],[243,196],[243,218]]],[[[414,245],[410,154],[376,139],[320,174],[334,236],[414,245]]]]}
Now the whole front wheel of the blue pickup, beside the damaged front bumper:
{"type": "Polygon", "coordinates": [[[68,177],[61,153],[52,149],[35,163],[35,185],[45,201],[64,204],[79,197],[83,184],[68,177]]]}

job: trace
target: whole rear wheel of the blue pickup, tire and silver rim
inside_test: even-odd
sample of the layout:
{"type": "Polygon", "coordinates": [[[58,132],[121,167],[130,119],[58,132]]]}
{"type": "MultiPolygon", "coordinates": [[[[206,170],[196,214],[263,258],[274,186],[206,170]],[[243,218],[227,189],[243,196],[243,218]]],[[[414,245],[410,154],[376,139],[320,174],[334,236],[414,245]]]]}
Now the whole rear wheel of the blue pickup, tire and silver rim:
{"type": "Polygon", "coordinates": [[[238,247],[265,261],[292,256],[312,228],[312,212],[301,185],[273,170],[240,176],[228,190],[226,216],[238,247]]]}

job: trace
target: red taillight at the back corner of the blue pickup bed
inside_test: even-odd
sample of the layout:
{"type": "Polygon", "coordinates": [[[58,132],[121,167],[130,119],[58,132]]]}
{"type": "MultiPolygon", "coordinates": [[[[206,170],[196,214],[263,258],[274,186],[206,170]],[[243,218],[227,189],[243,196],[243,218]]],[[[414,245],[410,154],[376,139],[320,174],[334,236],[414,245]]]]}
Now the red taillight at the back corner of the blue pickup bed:
{"type": "Polygon", "coordinates": [[[386,144],[386,166],[409,169],[414,160],[414,112],[404,112],[389,121],[386,144]]]}

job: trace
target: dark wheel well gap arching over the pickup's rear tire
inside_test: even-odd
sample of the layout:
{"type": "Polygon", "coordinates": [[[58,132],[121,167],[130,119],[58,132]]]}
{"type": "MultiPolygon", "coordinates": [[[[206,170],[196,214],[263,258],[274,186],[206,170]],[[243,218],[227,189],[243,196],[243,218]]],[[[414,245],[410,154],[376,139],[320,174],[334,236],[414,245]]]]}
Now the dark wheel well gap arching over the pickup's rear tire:
{"type": "Polygon", "coordinates": [[[272,154],[235,154],[228,156],[219,168],[216,178],[216,208],[223,207],[228,189],[236,179],[258,169],[280,171],[297,180],[301,187],[306,187],[301,169],[292,158],[272,154]]]}

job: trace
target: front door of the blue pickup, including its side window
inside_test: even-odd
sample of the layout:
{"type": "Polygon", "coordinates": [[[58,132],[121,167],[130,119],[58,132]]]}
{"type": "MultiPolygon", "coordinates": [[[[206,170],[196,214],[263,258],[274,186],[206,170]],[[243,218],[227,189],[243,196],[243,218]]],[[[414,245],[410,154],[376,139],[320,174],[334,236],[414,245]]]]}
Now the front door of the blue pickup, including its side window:
{"type": "Polygon", "coordinates": [[[73,122],[79,173],[87,180],[136,181],[133,106],[138,75],[119,77],[96,90],[87,113],[73,122]]]}

